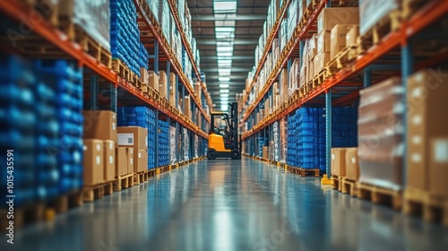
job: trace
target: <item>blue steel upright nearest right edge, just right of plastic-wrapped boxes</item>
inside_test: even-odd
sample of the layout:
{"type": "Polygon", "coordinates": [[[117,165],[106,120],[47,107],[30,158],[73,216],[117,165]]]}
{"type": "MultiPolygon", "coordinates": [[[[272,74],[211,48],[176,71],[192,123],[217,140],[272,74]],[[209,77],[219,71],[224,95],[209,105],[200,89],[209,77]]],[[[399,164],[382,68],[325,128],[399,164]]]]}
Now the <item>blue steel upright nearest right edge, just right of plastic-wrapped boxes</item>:
{"type": "MultiPolygon", "coordinates": [[[[406,45],[402,45],[401,46],[401,80],[402,80],[402,84],[403,84],[403,88],[404,88],[404,95],[403,95],[403,102],[404,105],[406,106],[405,112],[403,113],[403,121],[407,121],[408,119],[408,100],[406,97],[406,93],[408,92],[408,78],[410,76],[410,74],[412,74],[414,72],[414,55],[412,52],[412,48],[413,48],[413,44],[412,44],[412,39],[409,39],[407,41],[408,43],[406,45]]],[[[407,161],[407,156],[408,156],[408,125],[406,125],[406,123],[402,123],[403,128],[404,128],[404,133],[403,133],[403,140],[404,140],[404,150],[403,150],[403,166],[402,166],[402,172],[401,172],[401,184],[403,187],[406,187],[407,182],[406,179],[408,177],[408,161],[407,161]]]]}

